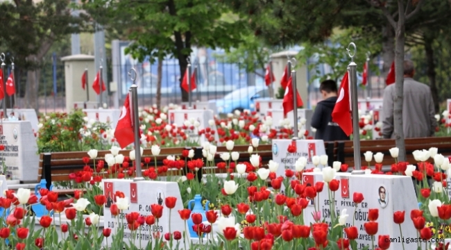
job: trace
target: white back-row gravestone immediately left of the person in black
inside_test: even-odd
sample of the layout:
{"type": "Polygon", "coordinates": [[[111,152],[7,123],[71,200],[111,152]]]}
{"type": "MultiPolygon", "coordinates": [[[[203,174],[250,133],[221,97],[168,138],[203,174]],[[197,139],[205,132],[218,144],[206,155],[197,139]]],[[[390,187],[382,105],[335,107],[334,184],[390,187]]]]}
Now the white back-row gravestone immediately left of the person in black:
{"type": "MultiPolygon", "coordinates": [[[[284,116],[283,109],[269,109],[266,110],[266,116],[273,118],[273,125],[271,125],[271,128],[274,128],[276,130],[280,130],[280,128],[283,128],[283,123],[285,122],[285,118],[288,119],[289,125],[291,128],[294,126],[294,117],[293,117],[293,111],[290,111],[287,116],[284,116]]],[[[312,116],[313,116],[313,110],[305,109],[305,108],[298,108],[298,129],[305,128],[306,131],[309,131],[309,135],[312,136],[312,126],[310,126],[310,123],[312,122],[312,116]],[[306,120],[305,125],[300,126],[300,119],[304,118],[306,120]]]]}

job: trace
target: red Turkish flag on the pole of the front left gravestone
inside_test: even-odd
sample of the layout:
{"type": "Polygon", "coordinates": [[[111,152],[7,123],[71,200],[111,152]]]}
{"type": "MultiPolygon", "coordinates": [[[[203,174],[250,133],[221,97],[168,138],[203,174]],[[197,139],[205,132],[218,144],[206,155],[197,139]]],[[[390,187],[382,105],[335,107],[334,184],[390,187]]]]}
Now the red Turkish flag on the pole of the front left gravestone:
{"type": "MultiPolygon", "coordinates": [[[[139,124],[136,124],[139,126],[139,124]]],[[[122,107],[121,116],[117,121],[116,129],[114,130],[114,138],[122,149],[135,141],[135,133],[133,131],[132,116],[130,110],[130,93],[127,94],[124,106],[122,107]]]]}

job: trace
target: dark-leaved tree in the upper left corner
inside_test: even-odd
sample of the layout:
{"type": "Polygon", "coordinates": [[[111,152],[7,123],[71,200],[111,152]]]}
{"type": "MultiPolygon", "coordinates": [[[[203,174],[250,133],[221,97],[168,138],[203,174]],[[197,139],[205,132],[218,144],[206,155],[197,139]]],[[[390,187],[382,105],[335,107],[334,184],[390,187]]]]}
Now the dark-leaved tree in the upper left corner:
{"type": "MultiPolygon", "coordinates": [[[[0,4],[0,41],[14,56],[19,70],[27,72],[30,83],[24,93],[27,108],[35,108],[39,66],[53,42],[86,28],[86,16],[72,16],[69,3],[69,0],[43,0],[37,3],[14,0],[0,4]]],[[[16,76],[22,75],[21,72],[15,72],[16,76]]]]}

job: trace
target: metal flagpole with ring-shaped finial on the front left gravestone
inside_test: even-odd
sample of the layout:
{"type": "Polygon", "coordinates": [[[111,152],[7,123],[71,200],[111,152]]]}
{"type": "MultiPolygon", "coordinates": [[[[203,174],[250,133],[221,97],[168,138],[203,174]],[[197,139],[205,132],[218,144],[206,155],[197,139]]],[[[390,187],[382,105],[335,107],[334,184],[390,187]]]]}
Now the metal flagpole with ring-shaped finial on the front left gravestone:
{"type": "Polygon", "coordinates": [[[138,86],[136,85],[136,77],[137,72],[134,68],[130,69],[128,72],[130,79],[133,81],[133,84],[130,86],[130,92],[132,92],[132,122],[133,122],[133,133],[135,133],[135,166],[136,166],[136,177],[133,178],[133,181],[144,181],[144,177],[142,177],[142,169],[141,169],[141,144],[139,143],[139,139],[141,135],[139,135],[139,115],[138,115],[138,86]],[[132,73],[135,73],[135,77],[132,76],[132,73]]]}

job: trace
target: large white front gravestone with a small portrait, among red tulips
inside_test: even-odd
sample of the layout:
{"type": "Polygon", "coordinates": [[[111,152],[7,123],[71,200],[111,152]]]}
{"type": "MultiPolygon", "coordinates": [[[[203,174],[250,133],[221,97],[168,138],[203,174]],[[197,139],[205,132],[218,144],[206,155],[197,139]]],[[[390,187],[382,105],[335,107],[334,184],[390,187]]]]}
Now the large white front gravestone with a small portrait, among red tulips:
{"type": "MultiPolygon", "coordinates": [[[[400,228],[398,224],[393,222],[393,213],[396,211],[405,211],[405,221],[401,224],[402,236],[405,239],[405,249],[416,249],[416,243],[410,242],[407,244],[407,238],[417,238],[416,229],[412,220],[410,219],[410,211],[418,209],[418,203],[415,195],[414,185],[409,176],[393,176],[383,174],[350,174],[337,173],[335,177],[340,181],[339,190],[335,191],[335,213],[338,217],[341,210],[347,210],[349,215],[346,220],[346,227],[352,226],[352,220],[355,219],[355,226],[359,233],[357,240],[357,247],[362,249],[369,246],[371,249],[371,235],[368,235],[364,228],[364,223],[368,222],[368,210],[377,208],[379,210],[379,217],[376,222],[378,224],[377,234],[374,237],[375,247],[377,247],[378,235],[390,235],[390,238],[401,239],[400,228]],[[352,201],[354,192],[360,192],[364,195],[364,201],[359,203],[357,211],[355,211],[355,203],[352,201]],[[380,200],[384,200],[382,203],[380,200]]],[[[318,181],[323,181],[323,174],[321,172],[304,173],[303,181],[309,183],[307,185],[314,185],[318,181]]],[[[321,220],[330,224],[330,201],[328,197],[327,185],[324,185],[322,192],[318,193],[318,197],[310,203],[303,211],[304,222],[306,225],[315,223],[312,213],[319,206],[321,211],[321,220]]],[[[346,233],[345,233],[346,235],[346,233]]],[[[347,236],[346,236],[347,237],[347,236]]],[[[410,241],[410,240],[409,240],[410,241]]],[[[402,243],[391,242],[390,250],[402,249],[402,243]]]]}

